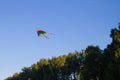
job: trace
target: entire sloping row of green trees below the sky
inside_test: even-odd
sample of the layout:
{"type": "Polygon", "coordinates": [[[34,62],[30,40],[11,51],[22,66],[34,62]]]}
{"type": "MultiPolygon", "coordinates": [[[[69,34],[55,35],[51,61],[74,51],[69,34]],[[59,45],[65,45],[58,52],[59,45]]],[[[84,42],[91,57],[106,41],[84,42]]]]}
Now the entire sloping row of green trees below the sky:
{"type": "Polygon", "coordinates": [[[81,52],[41,59],[5,80],[120,80],[120,25],[110,37],[104,50],[91,45],[81,52]]]}

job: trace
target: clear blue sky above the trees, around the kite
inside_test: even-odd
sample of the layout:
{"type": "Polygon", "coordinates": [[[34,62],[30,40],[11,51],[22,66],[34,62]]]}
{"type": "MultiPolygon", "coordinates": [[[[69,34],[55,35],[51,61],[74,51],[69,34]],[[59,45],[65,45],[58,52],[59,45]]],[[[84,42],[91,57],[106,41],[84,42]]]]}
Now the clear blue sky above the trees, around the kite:
{"type": "Polygon", "coordinates": [[[119,21],[120,0],[0,0],[0,80],[41,58],[104,49],[119,21]]]}

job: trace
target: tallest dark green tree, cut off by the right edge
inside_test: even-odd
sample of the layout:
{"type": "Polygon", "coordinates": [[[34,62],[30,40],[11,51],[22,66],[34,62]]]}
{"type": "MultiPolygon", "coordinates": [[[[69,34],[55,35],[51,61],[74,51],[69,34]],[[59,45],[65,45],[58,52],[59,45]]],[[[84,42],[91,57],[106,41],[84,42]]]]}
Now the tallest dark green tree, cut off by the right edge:
{"type": "Polygon", "coordinates": [[[110,37],[112,43],[104,50],[105,73],[104,80],[120,80],[120,23],[118,29],[112,29],[110,37]]]}

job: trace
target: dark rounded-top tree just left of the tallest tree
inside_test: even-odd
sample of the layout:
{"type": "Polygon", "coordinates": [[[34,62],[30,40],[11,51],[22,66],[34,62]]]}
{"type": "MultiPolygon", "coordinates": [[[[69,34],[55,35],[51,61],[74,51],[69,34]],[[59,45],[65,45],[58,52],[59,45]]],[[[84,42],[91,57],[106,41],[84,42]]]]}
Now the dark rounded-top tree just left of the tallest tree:
{"type": "Polygon", "coordinates": [[[100,79],[102,54],[97,46],[88,46],[85,50],[85,62],[82,74],[85,80],[100,79]]]}

